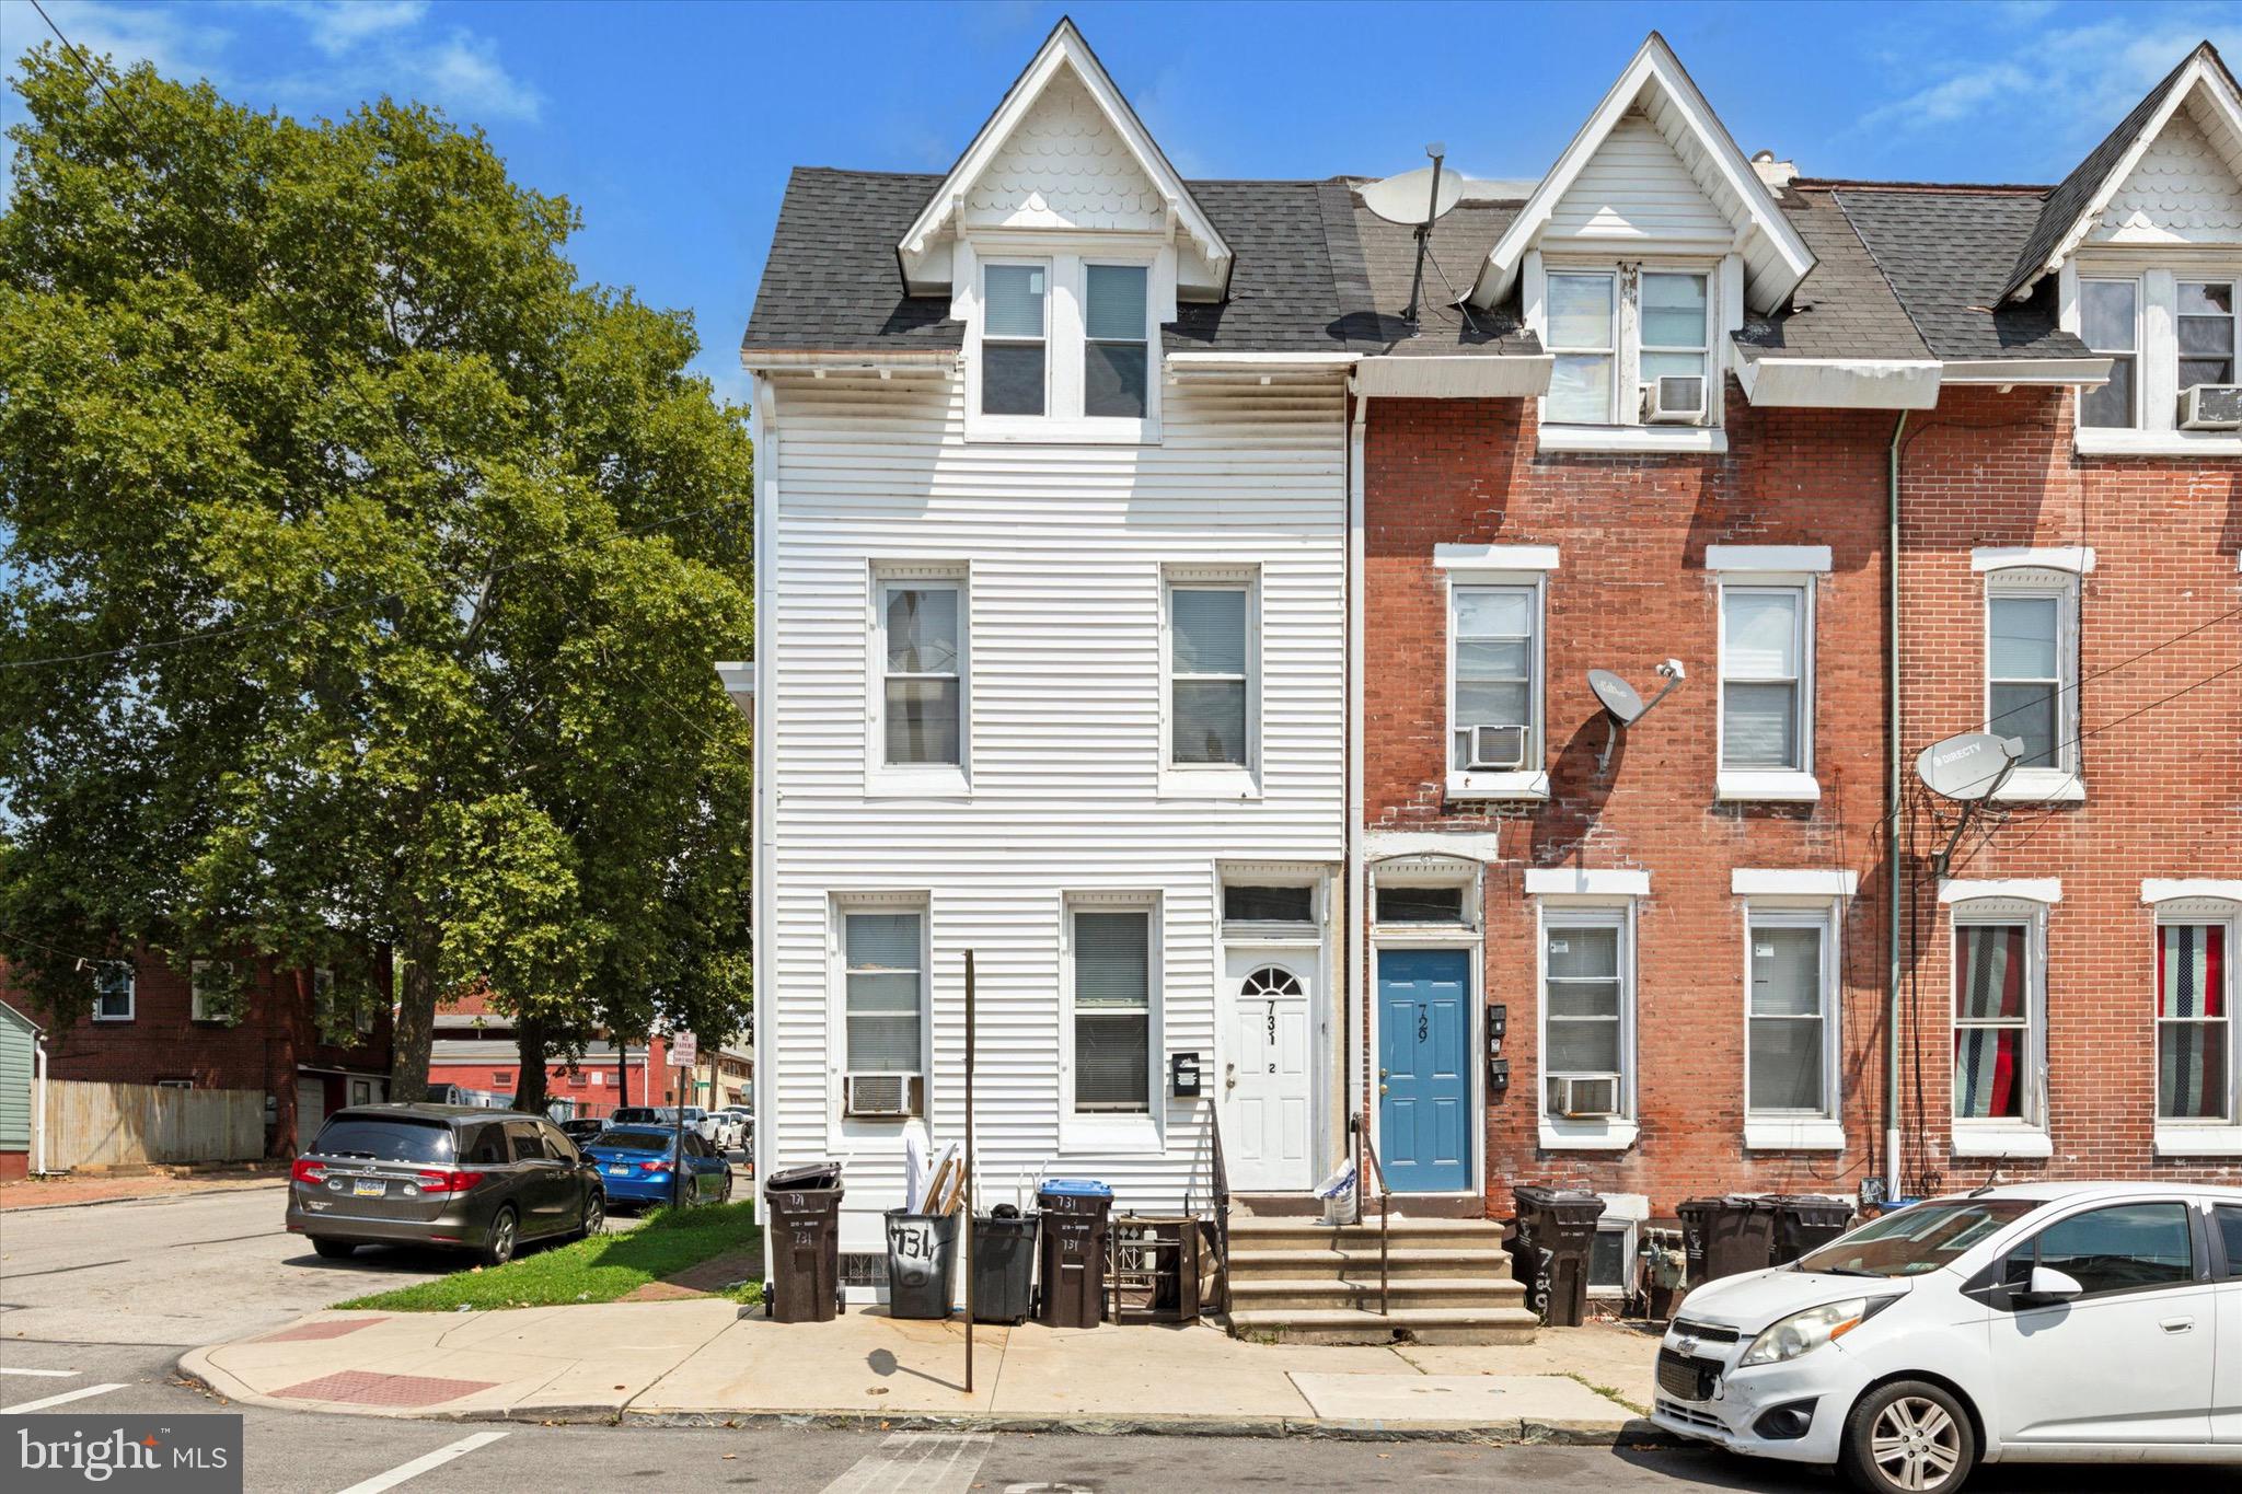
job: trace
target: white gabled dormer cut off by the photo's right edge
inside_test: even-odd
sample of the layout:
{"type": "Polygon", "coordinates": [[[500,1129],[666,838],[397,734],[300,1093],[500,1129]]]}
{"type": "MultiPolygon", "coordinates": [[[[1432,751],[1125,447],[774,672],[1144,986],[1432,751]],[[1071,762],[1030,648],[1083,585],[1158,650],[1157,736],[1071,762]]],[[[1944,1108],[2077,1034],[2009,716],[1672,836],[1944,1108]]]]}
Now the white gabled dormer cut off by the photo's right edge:
{"type": "Polygon", "coordinates": [[[2211,43],[2047,195],[2004,296],[2049,276],[2063,329],[2110,358],[2078,450],[2242,452],[2242,92],[2211,43]]]}

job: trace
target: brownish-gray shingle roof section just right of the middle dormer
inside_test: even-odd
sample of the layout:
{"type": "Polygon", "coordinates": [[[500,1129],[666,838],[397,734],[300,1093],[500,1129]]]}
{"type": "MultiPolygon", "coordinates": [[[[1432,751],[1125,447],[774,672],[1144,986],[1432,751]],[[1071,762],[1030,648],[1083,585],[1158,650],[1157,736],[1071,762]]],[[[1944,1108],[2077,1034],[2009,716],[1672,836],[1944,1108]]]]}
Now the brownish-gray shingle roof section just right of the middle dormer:
{"type": "Polygon", "coordinates": [[[1747,358],[1928,358],[1874,255],[1823,188],[1776,193],[1814,251],[1814,269],[1780,316],[1751,316],[1733,334],[1747,358]]]}

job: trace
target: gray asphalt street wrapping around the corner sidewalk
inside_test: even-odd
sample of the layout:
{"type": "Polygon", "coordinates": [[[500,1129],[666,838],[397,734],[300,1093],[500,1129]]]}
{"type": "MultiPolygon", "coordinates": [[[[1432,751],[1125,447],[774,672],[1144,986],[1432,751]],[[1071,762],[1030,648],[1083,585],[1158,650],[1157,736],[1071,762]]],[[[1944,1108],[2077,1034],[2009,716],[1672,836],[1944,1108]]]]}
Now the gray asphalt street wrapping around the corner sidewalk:
{"type": "MultiPolygon", "coordinates": [[[[240,1413],[247,1487],[379,1494],[626,1487],[691,1481],[832,1494],[1121,1490],[1805,1490],[1816,1472],[1695,1449],[1460,1447],[1256,1438],[944,1436],[881,1429],[455,1425],[229,1407],[177,1378],[184,1348],[235,1339],[457,1261],[361,1252],[321,1261],[280,1227],[280,1187],[0,1214],[0,1416],[34,1409],[240,1413]],[[61,1398],[61,1400],[56,1400],[61,1398]]],[[[2213,1487],[2208,1469],[2155,1483],[2213,1487]],[[2195,1483],[2202,1478],[2202,1483],[2195,1483]]],[[[1989,1469],[1986,1494],[2103,1494],[2132,1469],[1989,1469]]],[[[2238,1481],[2242,1483],[2242,1481],[2238,1481]]]]}

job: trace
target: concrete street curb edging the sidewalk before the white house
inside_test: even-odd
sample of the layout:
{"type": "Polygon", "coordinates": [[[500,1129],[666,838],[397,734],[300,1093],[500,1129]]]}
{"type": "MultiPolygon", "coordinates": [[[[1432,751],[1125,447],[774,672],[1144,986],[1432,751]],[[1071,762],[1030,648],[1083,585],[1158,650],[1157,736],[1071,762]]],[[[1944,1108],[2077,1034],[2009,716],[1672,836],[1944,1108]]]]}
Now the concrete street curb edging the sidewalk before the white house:
{"type": "MultiPolygon", "coordinates": [[[[222,1344],[220,1344],[222,1348],[222,1344]]],[[[365,1416],[451,1425],[599,1425],[599,1427],[697,1427],[697,1429],[816,1429],[816,1431],[1011,1431],[1034,1436],[1197,1436],[1197,1438],[1309,1438],[1327,1442],[1477,1442],[1538,1447],[1686,1447],[1643,1418],[1612,1422],[1381,1422],[1316,1416],[978,1416],[944,1411],[632,1411],[621,1404],[502,1407],[489,1411],[352,1411],[316,1409],[300,1400],[260,1395],[211,1364],[209,1348],[179,1355],[179,1378],[211,1395],[269,1411],[305,1416],[365,1416]]]]}

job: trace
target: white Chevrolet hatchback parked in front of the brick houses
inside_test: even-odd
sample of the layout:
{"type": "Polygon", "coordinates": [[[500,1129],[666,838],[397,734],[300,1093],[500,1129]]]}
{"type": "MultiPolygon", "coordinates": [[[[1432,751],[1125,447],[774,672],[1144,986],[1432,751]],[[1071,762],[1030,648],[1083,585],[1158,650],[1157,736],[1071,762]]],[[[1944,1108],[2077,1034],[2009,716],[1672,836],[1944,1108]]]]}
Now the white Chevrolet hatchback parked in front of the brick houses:
{"type": "Polygon", "coordinates": [[[2242,1189],[1926,1198],[1677,1308],[1652,1420],[1953,1494],[1984,1463],[2242,1463],[2242,1189]]]}

